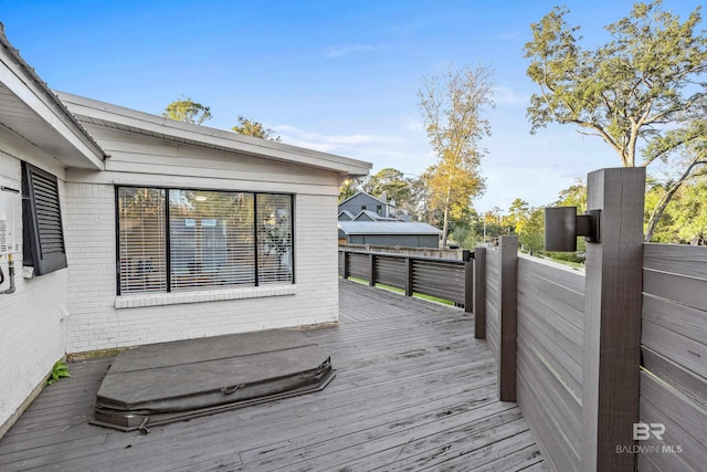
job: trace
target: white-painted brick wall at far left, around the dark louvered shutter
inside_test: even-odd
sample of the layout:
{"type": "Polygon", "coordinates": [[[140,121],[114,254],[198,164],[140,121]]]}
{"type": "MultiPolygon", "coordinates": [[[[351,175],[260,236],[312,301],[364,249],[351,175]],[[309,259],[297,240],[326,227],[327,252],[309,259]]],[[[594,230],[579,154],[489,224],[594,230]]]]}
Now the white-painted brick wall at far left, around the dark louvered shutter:
{"type": "MultiPolygon", "coordinates": [[[[0,136],[0,175],[20,189],[21,161],[4,153],[3,145],[7,141],[0,136]]],[[[6,147],[6,150],[10,149],[6,147]]],[[[52,171],[42,166],[41,156],[21,157],[52,171]]],[[[63,188],[60,180],[60,198],[63,198],[63,188]]],[[[0,295],[0,427],[46,379],[54,363],[64,355],[66,339],[66,270],[25,280],[22,277],[22,251],[14,254],[14,260],[17,291],[0,295]]],[[[0,258],[6,279],[7,261],[6,256],[0,258]]],[[[8,285],[6,280],[0,290],[4,291],[8,285]]]]}

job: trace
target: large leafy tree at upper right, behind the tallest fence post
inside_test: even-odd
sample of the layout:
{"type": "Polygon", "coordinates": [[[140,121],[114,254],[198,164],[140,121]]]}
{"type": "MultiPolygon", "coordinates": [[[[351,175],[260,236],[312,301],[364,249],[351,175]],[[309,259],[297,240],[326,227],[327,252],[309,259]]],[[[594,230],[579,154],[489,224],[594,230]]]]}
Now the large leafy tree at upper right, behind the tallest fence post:
{"type": "MultiPolygon", "coordinates": [[[[579,27],[567,24],[567,8],[555,8],[534,23],[532,41],[525,46],[528,75],[540,86],[528,107],[531,133],[549,123],[576,125],[581,134],[608,143],[627,167],[667,161],[705,139],[707,82],[700,80],[707,71],[707,39],[695,33],[700,8],[680,22],[662,3],[634,4],[627,18],[606,27],[611,41],[593,51],[578,45],[579,27]]],[[[695,157],[676,179],[675,191],[705,165],[704,154],[695,157]]],[[[672,189],[656,203],[646,240],[672,189]]]]}

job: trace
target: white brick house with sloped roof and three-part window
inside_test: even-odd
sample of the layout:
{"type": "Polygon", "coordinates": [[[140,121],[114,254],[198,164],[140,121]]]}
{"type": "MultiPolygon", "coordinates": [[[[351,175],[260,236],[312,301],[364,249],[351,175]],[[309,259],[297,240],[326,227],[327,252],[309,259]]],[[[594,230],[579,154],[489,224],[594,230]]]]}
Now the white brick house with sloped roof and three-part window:
{"type": "Polygon", "coordinates": [[[336,322],[338,188],[370,167],[57,97],[0,27],[0,437],[67,353],[336,322]]]}

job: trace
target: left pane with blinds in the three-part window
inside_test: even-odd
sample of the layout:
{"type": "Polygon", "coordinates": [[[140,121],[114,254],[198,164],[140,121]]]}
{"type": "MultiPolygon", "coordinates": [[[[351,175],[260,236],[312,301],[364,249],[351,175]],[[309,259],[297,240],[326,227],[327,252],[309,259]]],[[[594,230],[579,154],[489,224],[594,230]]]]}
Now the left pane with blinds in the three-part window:
{"type": "Polygon", "coordinates": [[[165,190],[118,189],[120,293],[167,291],[165,190]]]}

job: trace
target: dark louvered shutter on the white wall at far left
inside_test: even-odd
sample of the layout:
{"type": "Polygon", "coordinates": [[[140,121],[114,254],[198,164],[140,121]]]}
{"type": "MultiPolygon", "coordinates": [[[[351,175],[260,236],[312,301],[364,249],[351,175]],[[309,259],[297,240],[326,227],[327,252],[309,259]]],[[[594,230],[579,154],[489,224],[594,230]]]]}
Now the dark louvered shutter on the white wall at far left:
{"type": "Polygon", "coordinates": [[[56,177],[22,162],[22,263],[43,275],[66,266],[56,177]]]}

